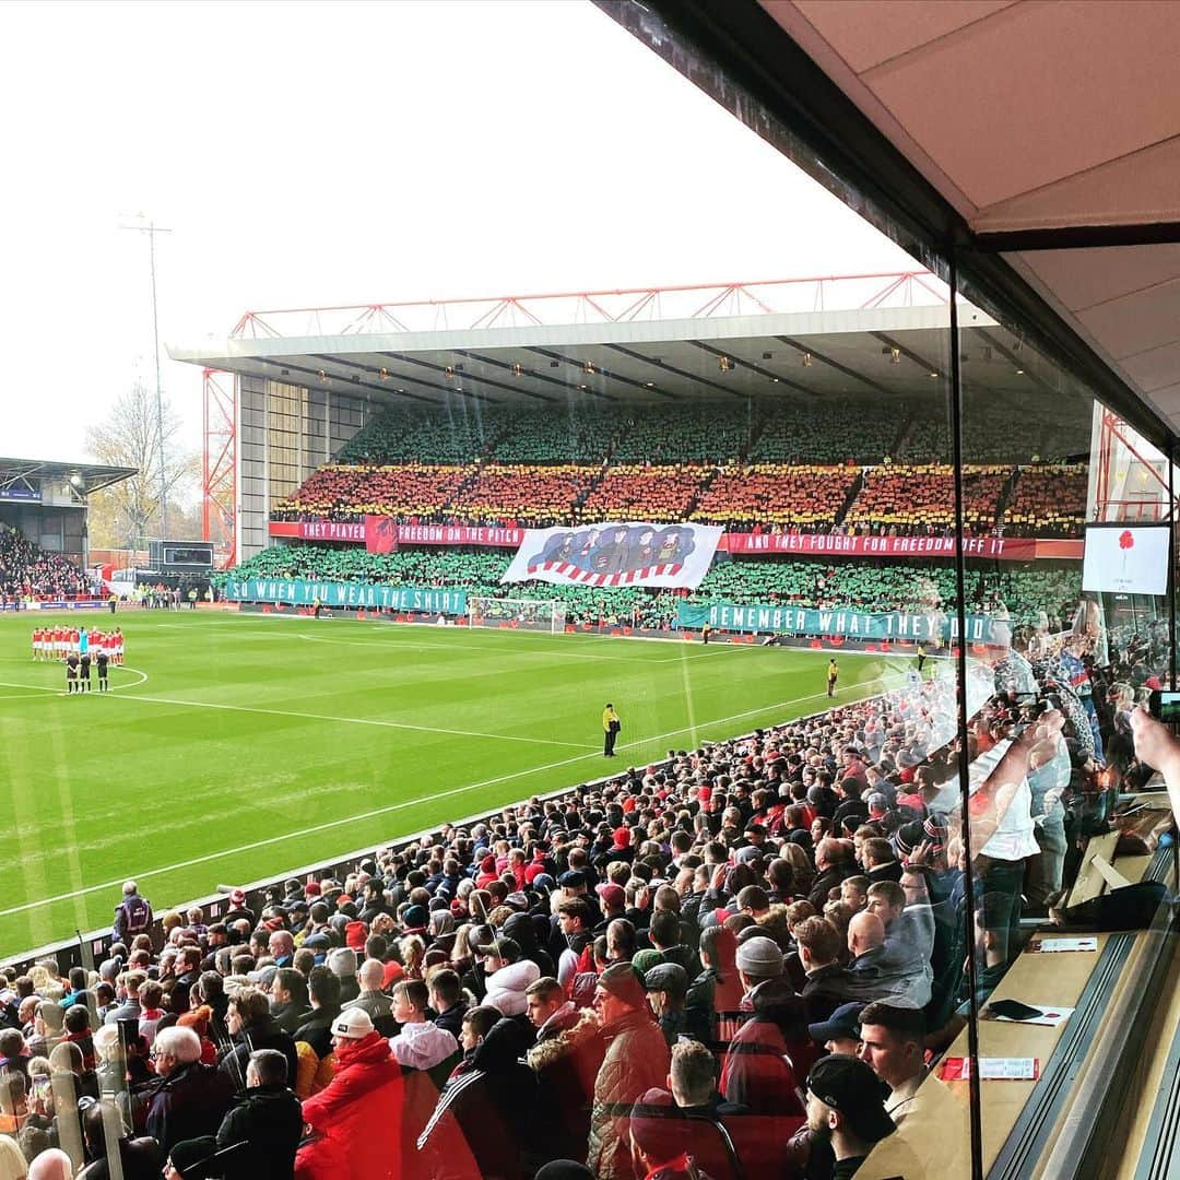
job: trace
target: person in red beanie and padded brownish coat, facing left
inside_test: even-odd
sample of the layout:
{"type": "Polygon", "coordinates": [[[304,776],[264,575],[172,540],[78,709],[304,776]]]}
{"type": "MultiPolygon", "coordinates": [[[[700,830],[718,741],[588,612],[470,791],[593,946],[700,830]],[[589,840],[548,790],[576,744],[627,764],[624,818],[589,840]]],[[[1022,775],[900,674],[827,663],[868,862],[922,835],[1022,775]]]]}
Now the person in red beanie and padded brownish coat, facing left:
{"type": "Polygon", "coordinates": [[[651,1021],[630,963],[612,963],[598,976],[594,1007],[607,1053],[595,1080],[586,1167],[604,1180],[630,1180],[630,1107],[663,1086],[668,1044],[651,1021]]]}

